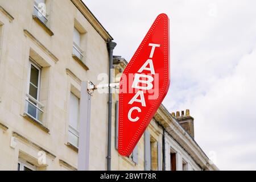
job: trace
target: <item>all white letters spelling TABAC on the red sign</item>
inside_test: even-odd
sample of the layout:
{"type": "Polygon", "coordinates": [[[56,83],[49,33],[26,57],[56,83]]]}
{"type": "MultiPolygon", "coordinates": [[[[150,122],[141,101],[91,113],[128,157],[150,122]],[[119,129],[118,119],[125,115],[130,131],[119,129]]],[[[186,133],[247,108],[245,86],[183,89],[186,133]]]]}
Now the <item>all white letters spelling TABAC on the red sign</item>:
{"type": "MultiPolygon", "coordinates": [[[[150,44],[148,44],[148,46],[152,47],[151,48],[151,52],[150,52],[150,57],[149,57],[150,59],[148,59],[142,65],[142,67],[139,69],[138,73],[142,73],[143,71],[150,71],[150,73],[152,75],[155,75],[155,68],[154,68],[154,64],[153,64],[152,58],[154,56],[155,48],[156,47],[160,47],[160,44],[152,44],[152,43],[150,43],[150,44]],[[148,65],[149,65],[149,67],[148,67],[148,65]]],[[[152,82],[154,81],[154,77],[152,77],[150,75],[144,75],[144,74],[138,74],[138,73],[135,74],[133,85],[131,86],[131,88],[141,89],[141,90],[139,90],[135,94],[135,96],[131,99],[129,104],[132,105],[134,102],[140,102],[143,107],[146,107],[146,101],[145,101],[144,93],[143,93],[142,90],[151,90],[154,87],[154,85],[152,84],[152,82]],[[143,79],[143,78],[146,78],[146,80],[143,79]],[[146,85],[146,86],[139,86],[140,84],[141,85],[146,85]],[[138,97],[141,97],[141,98],[138,99],[138,97]]],[[[128,119],[131,122],[139,121],[139,117],[131,118],[131,114],[133,113],[134,110],[137,110],[138,113],[141,113],[141,108],[140,107],[132,107],[129,110],[129,113],[128,113],[128,119]]]]}

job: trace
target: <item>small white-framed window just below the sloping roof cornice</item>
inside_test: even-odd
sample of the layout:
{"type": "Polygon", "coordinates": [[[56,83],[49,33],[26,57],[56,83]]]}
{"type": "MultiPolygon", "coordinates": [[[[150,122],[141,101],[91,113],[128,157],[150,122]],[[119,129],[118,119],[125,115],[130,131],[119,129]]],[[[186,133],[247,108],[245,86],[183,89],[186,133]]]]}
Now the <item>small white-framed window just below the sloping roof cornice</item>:
{"type": "Polygon", "coordinates": [[[77,30],[76,27],[74,27],[74,32],[73,32],[73,55],[78,57],[80,60],[83,59],[83,51],[80,48],[81,46],[81,33],[79,30],[77,30]]]}

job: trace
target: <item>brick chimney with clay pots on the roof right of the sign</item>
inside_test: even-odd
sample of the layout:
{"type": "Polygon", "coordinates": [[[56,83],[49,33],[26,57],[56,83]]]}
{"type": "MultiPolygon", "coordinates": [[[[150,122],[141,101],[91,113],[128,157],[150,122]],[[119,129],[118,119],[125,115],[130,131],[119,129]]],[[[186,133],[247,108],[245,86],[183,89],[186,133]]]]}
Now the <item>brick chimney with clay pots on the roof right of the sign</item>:
{"type": "MultiPolygon", "coordinates": [[[[177,111],[177,113],[180,113],[177,111]]],[[[176,116],[177,121],[180,123],[180,125],[187,131],[189,135],[191,135],[192,138],[195,138],[194,134],[194,118],[191,117],[189,114],[189,110],[187,109],[184,115],[184,111],[181,111],[181,116],[176,116]]]]}

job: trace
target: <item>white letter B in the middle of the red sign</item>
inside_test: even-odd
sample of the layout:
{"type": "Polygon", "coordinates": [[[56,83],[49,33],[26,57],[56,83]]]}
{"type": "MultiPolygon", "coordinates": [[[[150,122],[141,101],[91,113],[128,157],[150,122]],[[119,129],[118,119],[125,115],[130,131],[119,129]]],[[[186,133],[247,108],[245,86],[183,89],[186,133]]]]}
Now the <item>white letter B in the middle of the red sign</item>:
{"type": "Polygon", "coordinates": [[[154,78],[150,75],[135,74],[133,85],[134,89],[151,90],[153,88],[152,82],[154,78]],[[147,80],[141,80],[141,78],[147,78],[147,80]],[[139,83],[146,84],[147,86],[139,86],[139,83]]]}

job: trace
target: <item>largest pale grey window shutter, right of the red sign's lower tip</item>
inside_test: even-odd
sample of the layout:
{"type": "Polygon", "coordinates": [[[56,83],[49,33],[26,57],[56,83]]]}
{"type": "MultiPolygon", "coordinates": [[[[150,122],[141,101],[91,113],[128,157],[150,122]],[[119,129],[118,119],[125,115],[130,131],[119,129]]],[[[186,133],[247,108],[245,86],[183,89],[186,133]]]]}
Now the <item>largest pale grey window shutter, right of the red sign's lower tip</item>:
{"type": "Polygon", "coordinates": [[[151,150],[150,150],[150,133],[149,131],[144,132],[144,169],[150,171],[151,169],[151,150]]]}

